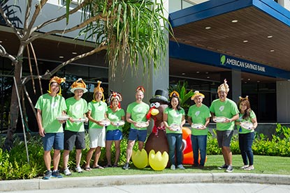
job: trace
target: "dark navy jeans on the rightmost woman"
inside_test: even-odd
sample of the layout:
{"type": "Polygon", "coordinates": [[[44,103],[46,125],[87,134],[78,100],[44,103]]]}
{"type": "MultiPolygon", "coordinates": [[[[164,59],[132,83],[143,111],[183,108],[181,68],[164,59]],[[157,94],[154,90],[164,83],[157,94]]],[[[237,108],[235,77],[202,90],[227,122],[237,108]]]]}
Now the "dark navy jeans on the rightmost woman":
{"type": "Polygon", "coordinates": [[[242,154],[242,162],[244,162],[245,165],[248,164],[248,159],[249,165],[254,164],[254,154],[252,151],[254,136],[254,132],[239,134],[240,153],[242,154]]]}

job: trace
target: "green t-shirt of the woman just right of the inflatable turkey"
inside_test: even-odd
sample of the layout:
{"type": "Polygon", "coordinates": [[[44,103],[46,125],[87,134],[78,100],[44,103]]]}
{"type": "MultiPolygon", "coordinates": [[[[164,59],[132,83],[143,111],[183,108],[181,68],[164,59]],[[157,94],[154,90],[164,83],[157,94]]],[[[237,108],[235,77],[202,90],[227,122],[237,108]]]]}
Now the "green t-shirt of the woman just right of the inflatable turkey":
{"type": "MultiPolygon", "coordinates": [[[[173,123],[175,123],[177,125],[181,125],[181,123],[182,123],[182,116],[185,116],[184,109],[182,109],[182,108],[179,111],[177,111],[175,109],[172,109],[170,107],[167,107],[164,110],[164,114],[167,114],[167,123],[168,123],[168,126],[170,126],[173,123]]],[[[171,130],[168,130],[166,128],[166,133],[180,133],[180,134],[182,134],[182,130],[171,131],[171,130]]]]}

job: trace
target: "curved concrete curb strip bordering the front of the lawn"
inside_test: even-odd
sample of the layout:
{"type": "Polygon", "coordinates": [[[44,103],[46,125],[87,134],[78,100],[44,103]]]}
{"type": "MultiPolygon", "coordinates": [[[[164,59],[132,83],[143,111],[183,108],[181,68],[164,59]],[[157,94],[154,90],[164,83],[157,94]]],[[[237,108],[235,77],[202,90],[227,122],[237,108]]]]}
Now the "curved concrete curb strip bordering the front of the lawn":
{"type": "Polygon", "coordinates": [[[173,183],[257,183],[290,185],[290,175],[256,173],[168,173],[128,176],[70,177],[60,179],[51,178],[50,180],[3,180],[0,181],[0,192],[173,183]]]}

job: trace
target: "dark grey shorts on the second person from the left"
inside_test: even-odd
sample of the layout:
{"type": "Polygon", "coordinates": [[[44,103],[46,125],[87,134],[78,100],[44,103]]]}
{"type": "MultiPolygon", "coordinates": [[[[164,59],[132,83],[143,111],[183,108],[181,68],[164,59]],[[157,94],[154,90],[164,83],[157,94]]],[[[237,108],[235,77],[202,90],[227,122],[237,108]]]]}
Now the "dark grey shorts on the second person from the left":
{"type": "Polygon", "coordinates": [[[64,130],[64,149],[73,150],[85,148],[85,132],[72,132],[64,130]]]}

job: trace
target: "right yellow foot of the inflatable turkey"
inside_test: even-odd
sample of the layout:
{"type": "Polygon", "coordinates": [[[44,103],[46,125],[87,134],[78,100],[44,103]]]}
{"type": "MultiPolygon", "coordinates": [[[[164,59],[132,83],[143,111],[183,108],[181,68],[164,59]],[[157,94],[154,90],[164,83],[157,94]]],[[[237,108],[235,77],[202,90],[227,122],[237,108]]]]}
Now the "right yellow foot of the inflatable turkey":
{"type": "Polygon", "coordinates": [[[155,154],[154,150],[150,150],[149,153],[149,164],[152,169],[155,171],[162,171],[166,168],[167,162],[168,162],[168,153],[164,151],[163,155],[161,155],[161,152],[158,151],[155,154]]]}

